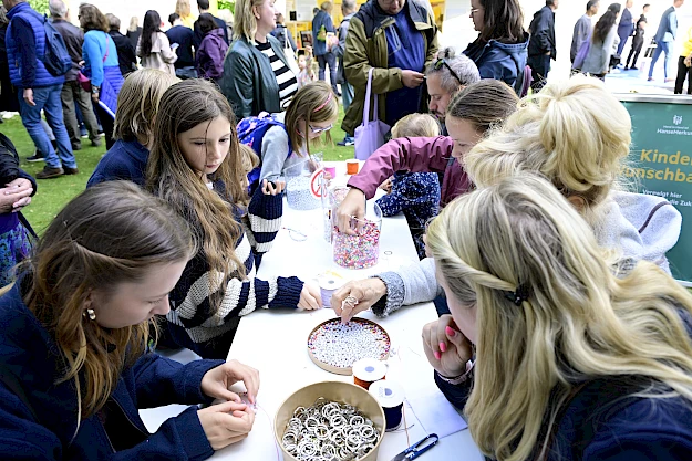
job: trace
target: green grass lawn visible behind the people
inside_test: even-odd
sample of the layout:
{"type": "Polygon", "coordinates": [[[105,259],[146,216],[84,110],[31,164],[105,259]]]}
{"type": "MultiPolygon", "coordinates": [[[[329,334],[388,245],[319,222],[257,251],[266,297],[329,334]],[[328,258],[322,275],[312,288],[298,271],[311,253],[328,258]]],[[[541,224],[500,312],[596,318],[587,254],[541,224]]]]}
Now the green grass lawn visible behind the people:
{"type": "MultiPolygon", "coordinates": [[[[341,119],[343,118],[343,111],[340,109],[339,122],[334,124],[331,130],[333,145],[327,145],[319,148],[314,148],[314,151],[322,151],[326,160],[345,160],[353,158],[353,147],[340,147],[335,143],[343,139],[343,132],[341,130],[341,119]]],[[[27,157],[33,155],[34,146],[33,142],[27,134],[27,129],[21,123],[19,115],[6,119],[0,125],[0,132],[12,139],[20,157],[21,168],[35,176],[43,166],[43,161],[28,163],[27,157]]],[[[82,150],[74,153],[76,157],[78,167],[80,169],[79,175],[61,176],[54,179],[42,179],[39,182],[37,195],[33,197],[31,205],[25,207],[22,212],[34,228],[34,230],[41,234],[48,224],[53,220],[55,214],[65,206],[74,196],[80,193],[86,187],[86,181],[93,172],[96,164],[101,160],[103,154],[105,154],[105,143],[102,147],[91,147],[89,139],[82,139],[82,150]]]]}

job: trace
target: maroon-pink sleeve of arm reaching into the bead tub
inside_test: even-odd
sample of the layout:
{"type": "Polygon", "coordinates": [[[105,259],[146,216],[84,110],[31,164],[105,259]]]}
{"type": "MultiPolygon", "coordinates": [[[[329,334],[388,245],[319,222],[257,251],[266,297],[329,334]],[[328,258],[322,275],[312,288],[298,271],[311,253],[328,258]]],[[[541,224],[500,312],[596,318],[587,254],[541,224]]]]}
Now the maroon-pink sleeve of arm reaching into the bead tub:
{"type": "Polygon", "coordinates": [[[454,140],[447,136],[392,139],[370,156],[360,172],[351,177],[349,186],[371,199],[378,186],[396,171],[444,171],[453,147],[454,140]]]}

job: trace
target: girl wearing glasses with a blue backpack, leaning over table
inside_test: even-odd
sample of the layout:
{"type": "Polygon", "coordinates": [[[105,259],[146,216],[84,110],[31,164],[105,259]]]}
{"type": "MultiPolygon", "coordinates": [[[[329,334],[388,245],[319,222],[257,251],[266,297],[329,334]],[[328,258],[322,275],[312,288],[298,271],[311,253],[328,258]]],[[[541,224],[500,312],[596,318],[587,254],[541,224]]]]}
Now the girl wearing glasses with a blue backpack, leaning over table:
{"type": "Polygon", "coordinates": [[[264,180],[279,179],[283,170],[306,161],[310,143],[324,135],[337,123],[339,103],[332,88],[322,81],[312,82],[296,93],[286,112],[262,113],[247,117],[238,124],[238,138],[257,153],[259,167],[249,175],[252,192],[264,180]]]}

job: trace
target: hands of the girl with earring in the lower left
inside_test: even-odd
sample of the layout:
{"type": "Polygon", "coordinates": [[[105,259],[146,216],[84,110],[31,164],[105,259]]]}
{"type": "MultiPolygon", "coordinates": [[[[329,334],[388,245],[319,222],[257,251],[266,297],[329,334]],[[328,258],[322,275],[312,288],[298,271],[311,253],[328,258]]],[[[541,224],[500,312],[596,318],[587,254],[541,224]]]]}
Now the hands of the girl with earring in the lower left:
{"type": "Polygon", "coordinates": [[[215,451],[248,437],[255,423],[252,408],[244,404],[237,394],[228,390],[230,386],[239,381],[245,384],[248,400],[256,404],[259,371],[252,367],[238,360],[228,360],[210,369],[202,378],[200,388],[206,396],[227,400],[197,411],[204,433],[215,451]]]}

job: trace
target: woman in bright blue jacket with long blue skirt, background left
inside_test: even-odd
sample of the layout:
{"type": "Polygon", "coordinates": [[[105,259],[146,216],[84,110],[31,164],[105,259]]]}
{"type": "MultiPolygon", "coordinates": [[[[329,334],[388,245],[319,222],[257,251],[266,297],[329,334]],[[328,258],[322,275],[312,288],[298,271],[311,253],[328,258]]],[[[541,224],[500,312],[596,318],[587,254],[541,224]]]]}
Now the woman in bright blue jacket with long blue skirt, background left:
{"type": "Polygon", "coordinates": [[[91,98],[94,102],[106,148],[113,147],[113,123],[117,109],[117,94],[123,86],[117,49],[109,35],[105,15],[93,4],[80,4],[80,25],[84,31],[84,74],[91,78],[91,98]]]}

